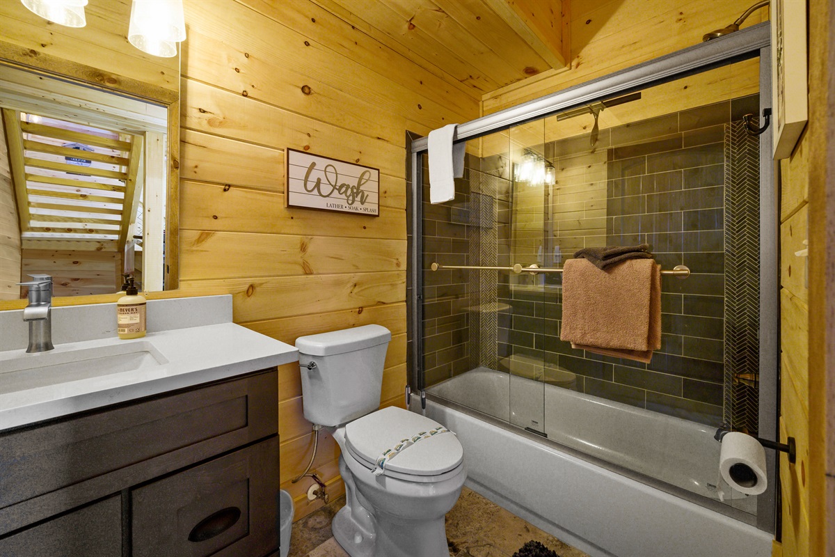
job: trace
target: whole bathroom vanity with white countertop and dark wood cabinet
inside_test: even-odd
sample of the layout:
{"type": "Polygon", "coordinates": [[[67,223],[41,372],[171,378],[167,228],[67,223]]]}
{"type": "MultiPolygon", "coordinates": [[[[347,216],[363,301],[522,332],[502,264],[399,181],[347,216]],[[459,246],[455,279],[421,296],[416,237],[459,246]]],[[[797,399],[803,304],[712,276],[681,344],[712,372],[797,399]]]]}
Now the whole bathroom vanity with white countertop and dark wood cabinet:
{"type": "MultiPolygon", "coordinates": [[[[166,322],[149,304],[149,322],[156,313],[185,327],[135,342],[56,337],[56,353],[38,360],[48,365],[19,372],[9,369],[42,355],[0,352],[0,554],[277,551],[276,366],[296,361],[296,349],[232,324],[229,296],[190,308],[220,321],[209,324],[184,311],[196,299],[164,302],[174,313],[166,322]],[[125,353],[139,369],[116,369],[125,353]],[[73,362],[78,354],[87,359],[73,362]]],[[[56,324],[70,308],[57,309],[56,324]]]]}

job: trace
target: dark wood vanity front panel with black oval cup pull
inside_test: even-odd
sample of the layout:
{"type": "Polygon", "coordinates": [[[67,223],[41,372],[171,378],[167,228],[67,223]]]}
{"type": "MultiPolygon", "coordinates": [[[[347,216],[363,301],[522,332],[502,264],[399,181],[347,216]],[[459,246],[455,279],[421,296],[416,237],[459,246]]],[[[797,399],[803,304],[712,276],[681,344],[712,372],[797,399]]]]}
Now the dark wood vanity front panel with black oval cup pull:
{"type": "Polygon", "coordinates": [[[265,555],[278,548],[278,438],[135,489],[133,555],[265,555]]]}

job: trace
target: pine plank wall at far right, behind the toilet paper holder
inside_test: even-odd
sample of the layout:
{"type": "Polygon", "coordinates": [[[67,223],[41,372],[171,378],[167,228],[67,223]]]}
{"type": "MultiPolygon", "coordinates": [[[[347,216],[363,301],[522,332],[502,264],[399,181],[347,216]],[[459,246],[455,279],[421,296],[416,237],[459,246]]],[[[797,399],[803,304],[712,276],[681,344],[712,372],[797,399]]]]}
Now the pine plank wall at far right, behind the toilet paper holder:
{"type": "Polygon", "coordinates": [[[809,5],[809,122],[780,161],[783,555],[835,554],[835,90],[831,3],[809,5]],[[795,256],[809,241],[809,257],[795,256]],[[827,413],[830,417],[827,420],[827,413]],[[827,501],[828,499],[828,501],[827,501]]]}

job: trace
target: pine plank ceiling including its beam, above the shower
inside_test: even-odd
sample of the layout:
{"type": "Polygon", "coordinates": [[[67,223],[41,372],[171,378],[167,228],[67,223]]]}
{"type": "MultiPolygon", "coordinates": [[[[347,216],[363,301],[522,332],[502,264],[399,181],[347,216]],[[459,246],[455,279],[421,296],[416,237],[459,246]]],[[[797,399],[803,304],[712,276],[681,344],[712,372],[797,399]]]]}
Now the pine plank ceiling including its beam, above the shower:
{"type": "Polygon", "coordinates": [[[569,59],[568,0],[314,0],[481,98],[569,59]]]}

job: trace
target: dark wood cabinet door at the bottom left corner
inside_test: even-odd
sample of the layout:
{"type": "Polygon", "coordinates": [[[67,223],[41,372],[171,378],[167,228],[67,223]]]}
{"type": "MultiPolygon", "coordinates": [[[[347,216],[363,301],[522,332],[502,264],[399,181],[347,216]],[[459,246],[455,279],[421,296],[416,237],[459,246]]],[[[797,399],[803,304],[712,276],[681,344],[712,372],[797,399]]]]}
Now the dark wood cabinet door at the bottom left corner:
{"type": "Polygon", "coordinates": [[[121,557],[122,499],[117,495],[0,539],[0,555],[121,557]]]}

